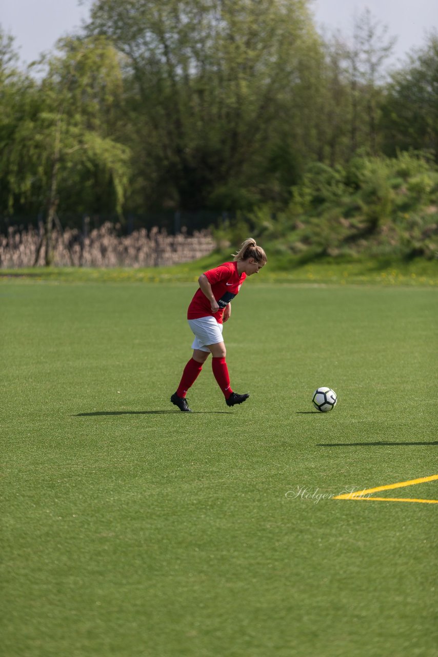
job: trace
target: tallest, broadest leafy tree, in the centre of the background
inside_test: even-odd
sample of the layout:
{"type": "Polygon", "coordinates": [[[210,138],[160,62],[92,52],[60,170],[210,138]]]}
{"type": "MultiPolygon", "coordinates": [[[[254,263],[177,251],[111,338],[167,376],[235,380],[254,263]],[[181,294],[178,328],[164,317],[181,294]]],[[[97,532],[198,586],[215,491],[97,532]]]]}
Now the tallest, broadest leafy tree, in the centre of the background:
{"type": "Polygon", "coordinates": [[[279,108],[316,38],[307,1],[97,0],[88,30],[129,60],[148,200],[252,204],[279,108]]]}

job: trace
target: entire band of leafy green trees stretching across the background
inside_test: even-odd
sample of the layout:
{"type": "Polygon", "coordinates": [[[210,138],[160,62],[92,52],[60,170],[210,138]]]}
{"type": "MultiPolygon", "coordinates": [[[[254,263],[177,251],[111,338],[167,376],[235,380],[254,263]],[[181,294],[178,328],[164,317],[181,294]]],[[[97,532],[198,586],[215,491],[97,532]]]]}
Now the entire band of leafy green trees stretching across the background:
{"type": "Polygon", "coordinates": [[[393,39],[353,25],[323,39],[310,0],[94,0],[37,79],[0,32],[0,212],[244,212],[274,236],[339,204],[378,229],[397,179],[432,193],[403,152],[438,157],[438,37],[388,81],[393,39]],[[382,149],[391,177],[366,169],[382,149]]]}

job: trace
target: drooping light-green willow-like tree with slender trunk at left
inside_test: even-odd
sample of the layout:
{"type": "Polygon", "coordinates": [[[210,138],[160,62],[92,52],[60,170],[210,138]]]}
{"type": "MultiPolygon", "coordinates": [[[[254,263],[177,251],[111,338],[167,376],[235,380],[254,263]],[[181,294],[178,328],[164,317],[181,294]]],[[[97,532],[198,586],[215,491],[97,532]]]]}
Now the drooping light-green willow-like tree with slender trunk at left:
{"type": "Polygon", "coordinates": [[[33,87],[32,103],[14,122],[1,154],[10,183],[9,210],[25,198],[36,198],[45,209],[47,265],[56,210],[69,189],[73,186],[77,194],[86,174],[92,178],[101,171],[110,178],[121,214],[129,177],[129,150],[112,139],[108,128],[121,95],[116,51],[104,37],[62,39],[58,48],[60,55],[48,60],[47,74],[33,87]]]}

